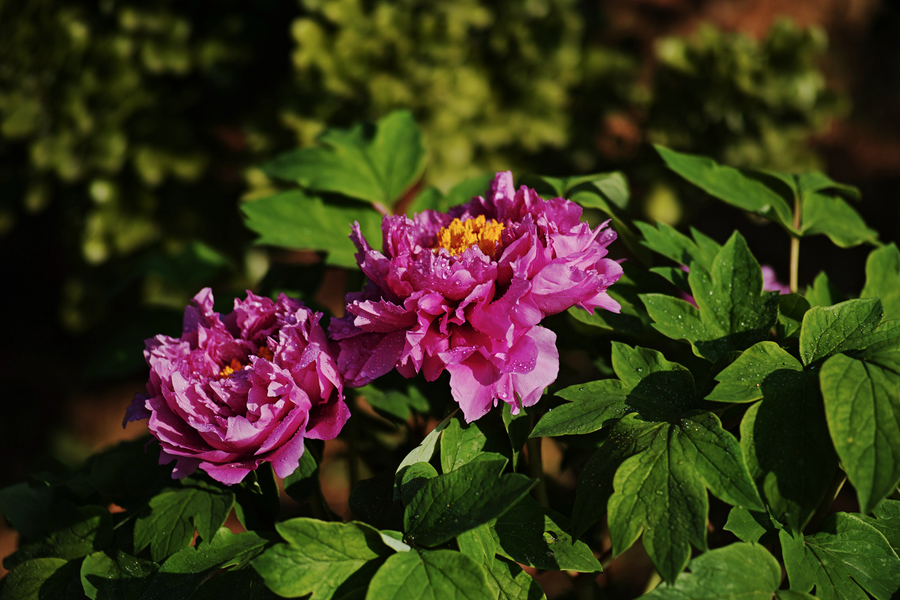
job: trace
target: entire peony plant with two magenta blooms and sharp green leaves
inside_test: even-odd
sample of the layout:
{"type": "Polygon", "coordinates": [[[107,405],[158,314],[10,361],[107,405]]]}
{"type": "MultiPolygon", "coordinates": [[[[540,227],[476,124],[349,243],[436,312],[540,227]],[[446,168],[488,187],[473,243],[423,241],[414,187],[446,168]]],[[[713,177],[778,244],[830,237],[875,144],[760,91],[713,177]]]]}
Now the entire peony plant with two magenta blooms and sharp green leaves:
{"type": "Polygon", "coordinates": [[[248,227],[320,263],[202,290],[146,342],[147,438],[0,491],[0,599],[896,597],[900,250],[821,173],[656,151],[790,283],[620,173],[429,188],[408,113],[264,165],[248,227]],[[858,293],[813,235],[872,247],[858,293]]]}

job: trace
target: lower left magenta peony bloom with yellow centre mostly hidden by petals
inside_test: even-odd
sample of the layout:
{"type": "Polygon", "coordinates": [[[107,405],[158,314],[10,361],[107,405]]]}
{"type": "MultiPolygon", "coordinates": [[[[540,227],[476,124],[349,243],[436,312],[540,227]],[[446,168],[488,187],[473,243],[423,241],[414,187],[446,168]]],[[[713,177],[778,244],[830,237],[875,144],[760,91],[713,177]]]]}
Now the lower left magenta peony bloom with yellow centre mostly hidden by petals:
{"type": "Polygon", "coordinates": [[[146,340],[147,393],[123,425],[149,419],[160,464],[174,460],[177,479],[200,467],[231,485],[264,462],[287,477],[306,438],[332,439],[350,416],[321,314],[247,292],[222,317],[209,288],[193,304],[180,338],[146,340]]]}

